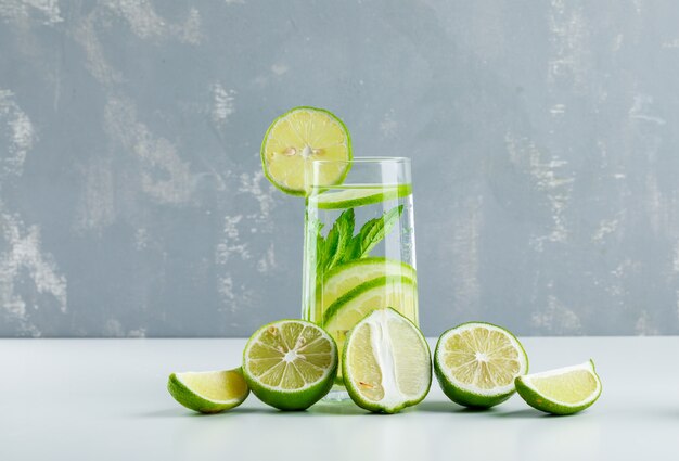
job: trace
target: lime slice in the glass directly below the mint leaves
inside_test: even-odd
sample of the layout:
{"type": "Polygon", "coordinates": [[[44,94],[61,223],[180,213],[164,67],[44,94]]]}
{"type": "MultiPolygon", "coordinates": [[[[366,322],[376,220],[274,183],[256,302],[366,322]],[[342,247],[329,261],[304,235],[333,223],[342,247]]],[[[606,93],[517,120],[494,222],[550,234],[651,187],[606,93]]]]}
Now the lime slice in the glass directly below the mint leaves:
{"type": "Polygon", "coordinates": [[[415,269],[402,261],[381,257],[355,259],[336,266],[323,276],[316,286],[316,317],[321,319],[322,312],[340,297],[357,286],[373,279],[387,276],[400,276],[406,283],[415,281],[415,269]]]}

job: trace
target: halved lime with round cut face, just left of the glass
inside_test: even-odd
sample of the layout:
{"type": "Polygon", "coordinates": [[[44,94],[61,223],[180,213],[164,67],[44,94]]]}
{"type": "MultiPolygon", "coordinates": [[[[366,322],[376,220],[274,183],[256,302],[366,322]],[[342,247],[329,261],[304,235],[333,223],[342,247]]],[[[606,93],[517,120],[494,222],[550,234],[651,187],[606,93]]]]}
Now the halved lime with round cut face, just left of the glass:
{"type": "Polygon", "coordinates": [[[337,346],[320,326],[280,320],[251,336],[243,351],[243,375],[265,404],[304,410],[330,392],[337,361],[337,346]]]}

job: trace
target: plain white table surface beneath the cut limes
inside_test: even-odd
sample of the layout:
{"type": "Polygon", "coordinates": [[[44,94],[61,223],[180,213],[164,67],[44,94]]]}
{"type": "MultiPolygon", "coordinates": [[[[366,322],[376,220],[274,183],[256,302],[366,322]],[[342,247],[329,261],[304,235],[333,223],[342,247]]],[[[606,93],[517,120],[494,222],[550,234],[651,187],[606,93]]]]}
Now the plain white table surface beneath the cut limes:
{"type": "Polygon", "coordinates": [[[0,340],[0,460],[661,460],[679,456],[678,337],[525,338],[533,371],[593,358],[599,401],[549,417],[518,396],[490,411],[436,381],[394,415],[347,404],[281,412],[251,394],[193,413],[172,371],[234,368],[245,340],[0,340]]]}

